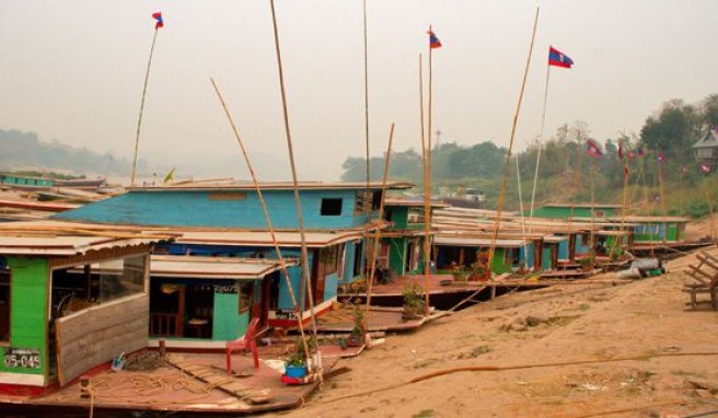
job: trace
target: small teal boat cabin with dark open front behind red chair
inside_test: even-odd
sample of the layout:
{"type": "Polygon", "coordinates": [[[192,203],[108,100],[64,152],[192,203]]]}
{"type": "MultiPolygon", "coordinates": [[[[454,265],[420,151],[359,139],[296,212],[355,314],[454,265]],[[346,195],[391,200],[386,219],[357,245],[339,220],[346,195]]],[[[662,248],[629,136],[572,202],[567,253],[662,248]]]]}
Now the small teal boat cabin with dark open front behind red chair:
{"type": "MultiPolygon", "coordinates": [[[[288,271],[297,266],[285,260],[288,271]]],[[[266,327],[280,275],[276,259],[152,255],[150,346],[223,348],[245,334],[251,318],[266,327]]]]}

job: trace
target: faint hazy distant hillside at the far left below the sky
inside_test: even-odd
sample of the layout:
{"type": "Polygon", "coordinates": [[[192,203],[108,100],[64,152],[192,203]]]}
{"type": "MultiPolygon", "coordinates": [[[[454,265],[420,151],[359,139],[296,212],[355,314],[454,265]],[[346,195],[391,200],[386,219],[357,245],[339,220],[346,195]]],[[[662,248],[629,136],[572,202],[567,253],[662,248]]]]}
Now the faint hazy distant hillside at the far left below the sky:
{"type": "MultiPolygon", "coordinates": [[[[86,148],[73,148],[57,141],[46,142],[34,132],[0,129],[0,171],[61,171],[69,174],[127,176],[131,161],[112,153],[97,153],[86,148]]],[[[150,170],[143,160],[141,173],[150,170]]]]}

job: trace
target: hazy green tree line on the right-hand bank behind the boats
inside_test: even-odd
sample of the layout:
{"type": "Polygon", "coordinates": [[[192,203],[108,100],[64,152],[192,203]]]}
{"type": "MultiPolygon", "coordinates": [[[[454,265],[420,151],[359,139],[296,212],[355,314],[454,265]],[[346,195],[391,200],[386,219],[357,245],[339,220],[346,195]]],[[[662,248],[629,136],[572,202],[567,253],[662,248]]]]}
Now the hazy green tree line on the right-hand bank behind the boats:
{"type": "MultiPolygon", "coordinates": [[[[705,183],[706,174],[699,170],[692,147],[716,127],[718,94],[710,94],[697,103],[668,101],[646,118],[639,132],[617,133],[613,138],[593,138],[586,121],[565,124],[543,144],[533,143],[524,151],[514,153],[509,165],[507,206],[509,209],[519,208],[517,164],[513,159],[519,159],[524,205],[530,201],[541,147],[536,190],[538,202],[590,201],[593,182],[597,201],[619,204],[624,173],[627,171],[629,202],[640,201],[647,210],[657,211],[660,196],[664,196],[664,200],[670,200],[668,210],[676,212],[680,206],[683,212],[685,206],[690,211],[691,201],[678,202],[674,195],[686,195],[685,188],[696,188],[705,183]],[[586,142],[590,138],[601,144],[602,158],[593,159],[587,154],[586,142]],[[623,159],[618,158],[619,150],[623,159]],[[659,162],[659,155],[662,162],[659,162]],[[661,185],[665,187],[663,193],[661,185]]],[[[485,190],[489,199],[496,201],[507,152],[506,148],[490,141],[474,146],[449,142],[435,147],[431,170],[433,191],[437,193],[442,185],[464,185],[485,190]]],[[[392,153],[390,163],[390,178],[409,181],[421,187],[420,153],[413,149],[392,153]]],[[[372,179],[381,178],[383,164],[384,158],[370,160],[372,179]]],[[[344,181],[366,179],[366,160],[362,158],[347,158],[343,169],[344,181]]],[[[714,172],[716,170],[718,167],[713,167],[714,172]]],[[[713,177],[713,173],[708,176],[713,177]]],[[[706,193],[700,193],[694,197],[705,200],[705,196],[706,193]]]]}

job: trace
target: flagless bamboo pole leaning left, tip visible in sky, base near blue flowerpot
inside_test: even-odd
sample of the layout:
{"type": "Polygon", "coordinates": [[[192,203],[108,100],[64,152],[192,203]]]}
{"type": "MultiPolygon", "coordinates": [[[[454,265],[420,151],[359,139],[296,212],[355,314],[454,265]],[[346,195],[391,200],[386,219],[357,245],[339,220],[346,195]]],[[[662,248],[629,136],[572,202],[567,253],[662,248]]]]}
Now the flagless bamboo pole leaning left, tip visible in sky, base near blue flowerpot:
{"type": "MultiPolygon", "coordinates": [[[[302,345],[304,346],[304,352],[306,353],[306,356],[310,356],[309,346],[306,344],[306,337],[304,336],[304,324],[302,323],[302,310],[299,307],[299,304],[297,302],[297,295],[294,294],[294,288],[292,287],[291,280],[289,279],[287,263],[285,262],[285,258],[281,255],[281,249],[279,248],[279,242],[277,240],[275,229],[271,224],[271,218],[269,217],[269,210],[267,209],[267,204],[264,200],[264,194],[262,193],[262,188],[259,187],[259,181],[257,179],[257,176],[254,172],[254,167],[252,165],[252,161],[250,160],[250,155],[247,154],[246,148],[244,147],[244,141],[242,141],[242,137],[240,136],[240,132],[236,129],[236,125],[232,119],[232,115],[230,114],[230,111],[227,107],[227,103],[224,102],[224,98],[222,97],[222,94],[220,93],[219,88],[215,82],[215,79],[210,78],[209,80],[211,81],[212,86],[215,88],[215,93],[217,93],[217,98],[219,98],[219,102],[222,105],[222,108],[224,109],[224,115],[227,115],[227,119],[229,120],[230,126],[232,127],[232,132],[234,133],[234,138],[236,138],[236,142],[240,144],[240,149],[242,150],[244,162],[246,163],[247,170],[252,175],[252,183],[254,184],[254,188],[257,190],[257,197],[259,199],[259,205],[262,206],[262,212],[264,214],[265,222],[267,223],[267,229],[269,230],[269,235],[271,236],[271,243],[275,247],[275,252],[277,253],[279,267],[281,268],[281,272],[285,275],[285,281],[287,283],[287,289],[289,290],[289,298],[291,299],[294,310],[294,316],[297,317],[297,326],[299,327],[299,333],[302,337],[302,345]]],[[[309,358],[306,360],[309,361],[309,358]]]]}

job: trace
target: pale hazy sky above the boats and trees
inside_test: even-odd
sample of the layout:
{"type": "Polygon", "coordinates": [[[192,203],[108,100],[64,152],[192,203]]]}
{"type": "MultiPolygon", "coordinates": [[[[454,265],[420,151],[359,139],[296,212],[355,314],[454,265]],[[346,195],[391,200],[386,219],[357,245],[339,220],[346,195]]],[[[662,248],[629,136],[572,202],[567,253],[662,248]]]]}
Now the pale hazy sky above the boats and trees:
{"type": "MultiPolygon", "coordinates": [[[[427,58],[429,24],[443,44],[433,54],[441,140],[507,146],[536,2],[367,2],[372,155],[385,150],[392,121],[394,149],[419,150],[418,55],[427,58]]],[[[347,155],[364,155],[362,0],[276,5],[299,176],[335,179],[347,155]]],[[[540,130],[549,44],[576,63],[552,69],[546,137],[576,119],[601,140],[637,132],[667,100],[718,93],[718,1],[538,5],[519,149],[540,130]]],[[[218,161],[217,175],[246,178],[209,83],[215,77],[251,155],[262,161],[258,176],[287,178],[268,0],[0,0],[0,128],[131,156],[155,11],[165,27],[140,156],[180,172],[187,161],[218,161]]]]}

